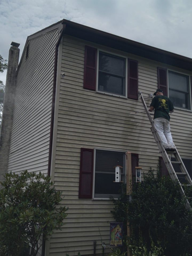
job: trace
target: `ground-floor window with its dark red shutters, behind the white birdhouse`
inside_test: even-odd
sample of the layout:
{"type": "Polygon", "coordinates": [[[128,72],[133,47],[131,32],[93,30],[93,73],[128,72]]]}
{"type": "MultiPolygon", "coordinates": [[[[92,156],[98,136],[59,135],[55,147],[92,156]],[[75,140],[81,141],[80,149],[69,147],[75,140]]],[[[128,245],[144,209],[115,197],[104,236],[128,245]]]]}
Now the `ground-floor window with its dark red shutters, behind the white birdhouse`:
{"type": "MultiPolygon", "coordinates": [[[[119,196],[120,182],[114,182],[115,166],[121,166],[121,181],[125,183],[125,152],[81,148],[79,170],[79,198],[95,199],[119,196]],[[94,157],[95,155],[95,157],[94,157]],[[95,161],[94,161],[95,158],[95,161]],[[94,168],[95,162],[95,168],[94,168]],[[95,175],[93,175],[95,169],[95,175]],[[94,186],[93,186],[94,176],[94,186]],[[94,187],[94,189],[93,189],[94,187]],[[94,196],[93,196],[94,193],[94,196]]],[[[131,154],[132,182],[136,183],[135,167],[139,155],[131,154]]],[[[117,168],[118,169],[118,168],[117,168]]],[[[116,170],[118,171],[118,170],[116,170]]]]}

